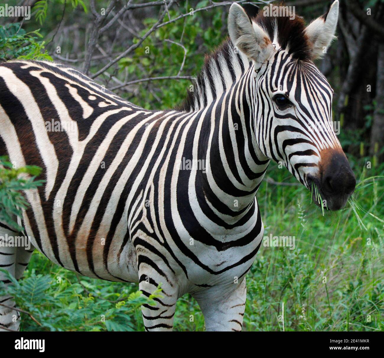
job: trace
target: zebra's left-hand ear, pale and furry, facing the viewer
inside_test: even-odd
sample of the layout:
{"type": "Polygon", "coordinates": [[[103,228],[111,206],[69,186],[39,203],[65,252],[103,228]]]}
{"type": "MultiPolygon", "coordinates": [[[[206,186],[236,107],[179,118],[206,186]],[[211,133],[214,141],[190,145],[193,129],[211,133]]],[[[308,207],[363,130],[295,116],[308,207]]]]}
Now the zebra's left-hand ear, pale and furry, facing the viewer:
{"type": "Polygon", "coordinates": [[[235,47],[255,62],[265,62],[274,51],[265,31],[252,22],[237,3],[233,3],[229,9],[228,32],[235,47]]]}

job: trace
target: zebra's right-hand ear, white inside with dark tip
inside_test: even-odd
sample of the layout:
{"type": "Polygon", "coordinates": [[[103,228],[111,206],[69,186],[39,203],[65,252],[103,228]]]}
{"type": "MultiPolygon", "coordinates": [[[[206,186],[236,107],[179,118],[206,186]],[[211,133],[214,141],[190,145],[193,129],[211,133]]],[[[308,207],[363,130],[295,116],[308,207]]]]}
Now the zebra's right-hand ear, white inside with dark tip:
{"type": "Polygon", "coordinates": [[[328,13],[313,20],[305,29],[305,33],[311,43],[313,59],[323,57],[333,39],[336,38],[334,33],[338,16],[339,1],[336,0],[329,8],[328,13]]]}

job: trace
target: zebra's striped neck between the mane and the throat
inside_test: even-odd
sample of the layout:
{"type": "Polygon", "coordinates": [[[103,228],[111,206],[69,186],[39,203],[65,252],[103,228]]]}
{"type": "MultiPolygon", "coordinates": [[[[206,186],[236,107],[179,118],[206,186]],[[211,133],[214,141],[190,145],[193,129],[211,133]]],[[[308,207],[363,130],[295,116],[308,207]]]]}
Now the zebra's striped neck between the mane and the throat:
{"type": "Polygon", "coordinates": [[[231,90],[206,108],[204,118],[210,130],[207,138],[206,173],[202,187],[207,205],[228,224],[242,221],[255,210],[255,195],[269,159],[258,148],[250,104],[252,69],[231,90]]]}

